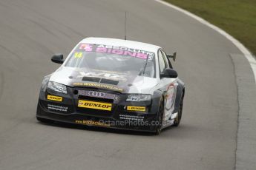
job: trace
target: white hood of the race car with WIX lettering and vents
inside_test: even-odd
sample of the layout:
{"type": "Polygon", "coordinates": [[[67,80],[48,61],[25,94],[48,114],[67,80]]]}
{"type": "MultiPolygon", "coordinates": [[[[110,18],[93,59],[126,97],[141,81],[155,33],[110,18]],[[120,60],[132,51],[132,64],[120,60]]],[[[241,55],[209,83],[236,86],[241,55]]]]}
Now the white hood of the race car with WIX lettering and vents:
{"type": "Polygon", "coordinates": [[[109,72],[96,69],[60,67],[53,72],[49,81],[66,86],[108,89],[122,93],[152,94],[157,78],[136,75],[134,72],[109,72]]]}

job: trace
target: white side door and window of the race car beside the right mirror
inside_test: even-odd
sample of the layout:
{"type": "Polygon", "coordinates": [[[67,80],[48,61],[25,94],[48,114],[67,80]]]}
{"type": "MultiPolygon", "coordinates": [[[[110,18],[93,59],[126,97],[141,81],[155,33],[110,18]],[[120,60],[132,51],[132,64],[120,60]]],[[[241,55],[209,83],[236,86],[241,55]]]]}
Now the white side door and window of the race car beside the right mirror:
{"type": "MultiPolygon", "coordinates": [[[[158,52],[159,72],[160,74],[166,68],[172,68],[168,63],[168,58],[163,50],[158,52]]],[[[160,78],[160,84],[164,91],[164,115],[163,115],[163,127],[171,124],[171,114],[174,111],[174,101],[176,97],[176,84],[177,78],[160,78]]]]}

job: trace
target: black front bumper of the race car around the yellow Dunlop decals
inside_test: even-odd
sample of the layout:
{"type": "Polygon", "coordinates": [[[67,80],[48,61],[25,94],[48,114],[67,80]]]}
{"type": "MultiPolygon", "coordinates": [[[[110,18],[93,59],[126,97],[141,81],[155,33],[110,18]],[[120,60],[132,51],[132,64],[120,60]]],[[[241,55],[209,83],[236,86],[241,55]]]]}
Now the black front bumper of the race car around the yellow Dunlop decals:
{"type": "Polygon", "coordinates": [[[73,88],[69,90],[68,94],[71,95],[63,95],[49,89],[46,92],[41,91],[36,116],[64,123],[145,132],[154,132],[157,127],[158,102],[155,102],[154,99],[148,102],[126,102],[127,95],[116,94],[118,100],[112,101],[111,111],[106,111],[78,107],[81,99],[94,100],[74,94],[73,88]],[[48,95],[59,96],[62,101],[49,100],[48,95]],[[128,111],[128,106],[145,106],[145,111],[128,111]]]}

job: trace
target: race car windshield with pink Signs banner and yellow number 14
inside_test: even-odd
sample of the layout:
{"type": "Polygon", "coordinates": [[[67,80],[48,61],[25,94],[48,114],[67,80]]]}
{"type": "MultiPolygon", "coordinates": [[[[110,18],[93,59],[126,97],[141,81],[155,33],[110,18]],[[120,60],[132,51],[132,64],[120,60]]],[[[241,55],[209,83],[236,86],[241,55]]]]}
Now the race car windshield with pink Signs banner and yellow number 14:
{"type": "Polygon", "coordinates": [[[154,52],[100,44],[79,44],[65,67],[94,69],[108,72],[155,77],[154,52]]]}

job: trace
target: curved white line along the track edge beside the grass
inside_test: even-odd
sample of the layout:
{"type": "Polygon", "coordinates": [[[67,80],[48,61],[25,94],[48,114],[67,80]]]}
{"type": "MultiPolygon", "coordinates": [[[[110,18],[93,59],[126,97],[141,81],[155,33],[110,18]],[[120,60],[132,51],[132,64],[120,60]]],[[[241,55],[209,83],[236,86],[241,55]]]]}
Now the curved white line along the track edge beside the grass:
{"type": "Polygon", "coordinates": [[[243,44],[240,43],[240,41],[238,41],[237,39],[235,39],[234,37],[232,37],[232,35],[229,35],[228,33],[226,33],[224,30],[221,30],[219,27],[216,27],[215,25],[209,23],[208,21],[204,20],[203,18],[200,18],[199,16],[194,15],[193,13],[188,12],[187,10],[183,10],[180,7],[177,7],[173,4],[169,4],[166,1],[162,1],[162,0],[155,0],[157,2],[160,2],[161,4],[165,4],[168,7],[173,8],[174,10],[178,10],[181,13],[185,13],[187,16],[190,16],[191,18],[196,19],[197,21],[200,21],[200,23],[205,24],[208,27],[211,27],[213,30],[216,30],[218,33],[220,33],[221,35],[225,36],[227,39],[229,39],[229,41],[232,41],[232,43],[241,51],[243,52],[243,55],[246,56],[247,60],[249,61],[250,66],[252,67],[252,71],[255,75],[255,84],[256,84],[256,60],[255,58],[252,56],[252,53],[249,52],[248,49],[246,49],[246,47],[243,46],[243,44]]]}

